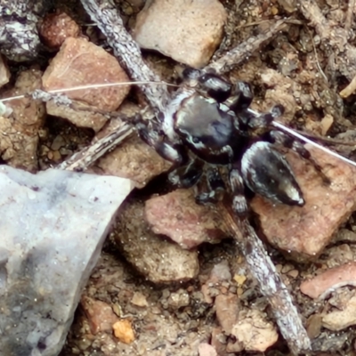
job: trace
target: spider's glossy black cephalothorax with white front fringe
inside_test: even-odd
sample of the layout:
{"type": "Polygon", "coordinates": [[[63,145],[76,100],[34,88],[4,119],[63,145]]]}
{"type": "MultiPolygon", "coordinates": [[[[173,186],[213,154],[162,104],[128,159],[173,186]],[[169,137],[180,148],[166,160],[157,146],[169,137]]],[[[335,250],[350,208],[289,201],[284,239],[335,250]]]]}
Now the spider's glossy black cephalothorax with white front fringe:
{"type": "Polygon", "coordinates": [[[175,114],[174,130],[199,158],[226,165],[234,157],[233,120],[215,101],[193,95],[175,114]]]}

